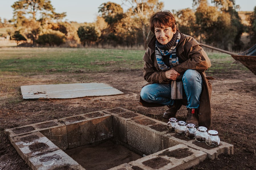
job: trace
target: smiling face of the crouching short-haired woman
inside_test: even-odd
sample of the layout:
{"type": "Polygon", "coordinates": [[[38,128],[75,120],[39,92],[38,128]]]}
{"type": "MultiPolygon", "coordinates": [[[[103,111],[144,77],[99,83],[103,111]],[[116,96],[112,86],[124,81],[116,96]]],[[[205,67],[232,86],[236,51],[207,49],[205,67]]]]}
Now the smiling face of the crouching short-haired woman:
{"type": "Polygon", "coordinates": [[[157,41],[163,45],[171,41],[171,39],[173,38],[173,34],[175,33],[176,33],[176,29],[175,31],[173,31],[171,27],[165,27],[165,28],[155,27],[155,37],[157,41]]]}

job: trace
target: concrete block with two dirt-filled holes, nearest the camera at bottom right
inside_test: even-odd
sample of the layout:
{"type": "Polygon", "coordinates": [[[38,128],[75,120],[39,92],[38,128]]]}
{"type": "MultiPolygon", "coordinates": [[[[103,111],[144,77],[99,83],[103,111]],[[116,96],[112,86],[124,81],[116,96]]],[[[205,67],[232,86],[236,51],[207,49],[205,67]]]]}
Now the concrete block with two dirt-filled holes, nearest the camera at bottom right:
{"type": "Polygon", "coordinates": [[[187,145],[179,144],[129,162],[129,164],[144,170],[179,170],[197,165],[206,158],[206,153],[192,149],[187,145]]]}

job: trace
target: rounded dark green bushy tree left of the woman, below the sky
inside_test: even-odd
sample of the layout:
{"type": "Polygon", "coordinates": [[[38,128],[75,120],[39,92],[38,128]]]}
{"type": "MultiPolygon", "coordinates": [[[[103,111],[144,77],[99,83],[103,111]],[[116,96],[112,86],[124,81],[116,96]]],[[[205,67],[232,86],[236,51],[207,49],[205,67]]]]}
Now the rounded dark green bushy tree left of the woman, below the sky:
{"type": "Polygon", "coordinates": [[[86,44],[91,45],[98,39],[98,34],[94,26],[81,26],[78,28],[77,34],[83,46],[86,44]]]}

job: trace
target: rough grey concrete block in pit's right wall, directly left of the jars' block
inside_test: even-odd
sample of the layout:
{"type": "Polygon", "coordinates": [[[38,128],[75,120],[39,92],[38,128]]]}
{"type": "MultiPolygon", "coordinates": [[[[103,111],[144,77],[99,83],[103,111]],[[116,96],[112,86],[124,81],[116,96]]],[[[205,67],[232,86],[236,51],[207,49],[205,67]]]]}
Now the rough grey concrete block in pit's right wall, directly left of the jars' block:
{"type": "Polygon", "coordinates": [[[148,117],[127,121],[128,145],[146,155],[162,150],[162,135],[167,132],[166,123],[148,117]]]}

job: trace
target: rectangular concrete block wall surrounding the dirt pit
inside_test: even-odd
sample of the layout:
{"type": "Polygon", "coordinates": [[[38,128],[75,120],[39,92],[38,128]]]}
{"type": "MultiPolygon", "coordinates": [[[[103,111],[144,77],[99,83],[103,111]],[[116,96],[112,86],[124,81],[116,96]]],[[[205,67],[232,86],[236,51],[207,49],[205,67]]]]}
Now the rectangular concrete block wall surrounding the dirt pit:
{"type": "Polygon", "coordinates": [[[62,150],[111,137],[141,155],[148,155],[112,170],[185,169],[207,156],[214,159],[221,153],[234,153],[233,145],[222,141],[218,147],[198,143],[169,132],[164,122],[120,107],[6,129],[5,134],[32,169],[83,169],[62,150]],[[187,156],[177,157],[173,152],[184,152],[187,156]]]}

